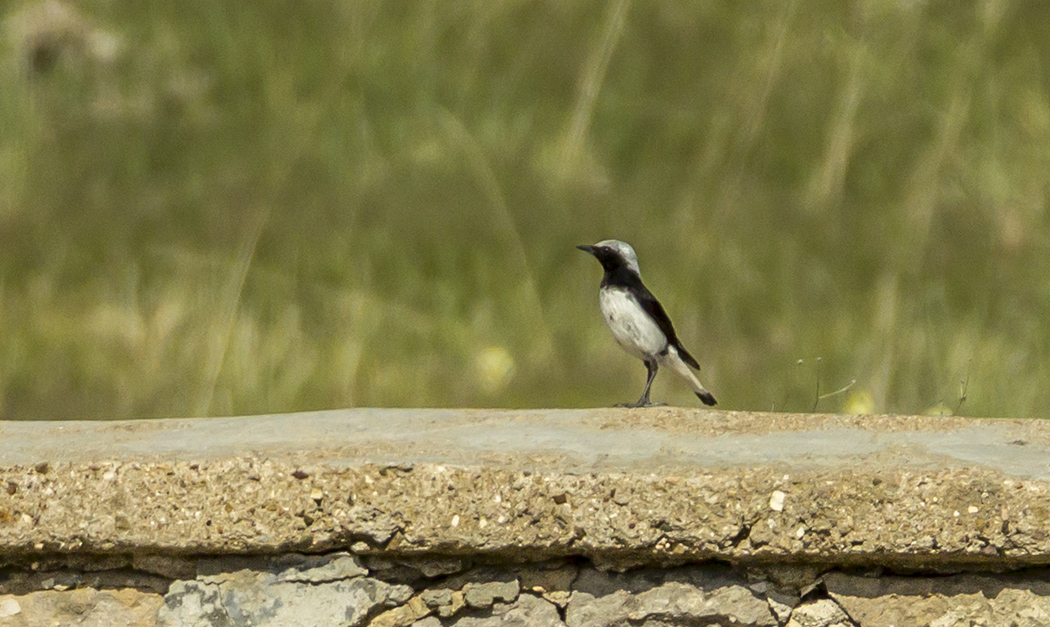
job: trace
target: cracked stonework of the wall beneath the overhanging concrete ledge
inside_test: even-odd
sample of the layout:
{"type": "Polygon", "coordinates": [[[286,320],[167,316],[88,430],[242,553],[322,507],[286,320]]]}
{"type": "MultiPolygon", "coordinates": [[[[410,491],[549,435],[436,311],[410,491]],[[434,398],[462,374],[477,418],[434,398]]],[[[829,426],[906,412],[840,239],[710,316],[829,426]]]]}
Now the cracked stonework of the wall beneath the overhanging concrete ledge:
{"type": "Polygon", "coordinates": [[[8,570],[0,625],[1050,625],[1046,569],[931,577],[705,563],[617,572],[576,558],[343,551],[153,558],[135,566],[8,570]]]}

